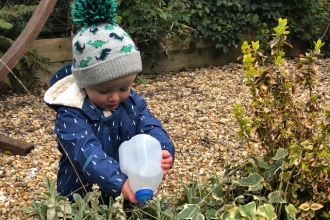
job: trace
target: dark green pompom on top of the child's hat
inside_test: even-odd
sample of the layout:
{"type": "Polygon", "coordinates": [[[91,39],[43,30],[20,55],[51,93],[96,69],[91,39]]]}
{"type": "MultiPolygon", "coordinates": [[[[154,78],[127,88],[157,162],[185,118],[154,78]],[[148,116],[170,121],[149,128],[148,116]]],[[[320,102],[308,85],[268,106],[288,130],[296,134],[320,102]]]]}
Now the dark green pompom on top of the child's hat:
{"type": "Polygon", "coordinates": [[[115,0],[74,0],[71,10],[72,20],[79,27],[115,23],[117,5],[115,0]]]}

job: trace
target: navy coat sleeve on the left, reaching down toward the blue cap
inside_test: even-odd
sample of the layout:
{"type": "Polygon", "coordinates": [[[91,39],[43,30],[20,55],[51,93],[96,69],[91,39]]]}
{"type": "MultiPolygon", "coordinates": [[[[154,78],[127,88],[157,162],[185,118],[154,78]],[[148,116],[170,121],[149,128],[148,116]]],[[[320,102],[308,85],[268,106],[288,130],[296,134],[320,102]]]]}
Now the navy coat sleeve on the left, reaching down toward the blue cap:
{"type": "Polygon", "coordinates": [[[68,108],[59,109],[55,132],[60,150],[69,156],[79,174],[84,175],[88,182],[98,184],[108,195],[120,195],[127,176],[121,173],[119,163],[105,154],[83,114],[68,108]]]}

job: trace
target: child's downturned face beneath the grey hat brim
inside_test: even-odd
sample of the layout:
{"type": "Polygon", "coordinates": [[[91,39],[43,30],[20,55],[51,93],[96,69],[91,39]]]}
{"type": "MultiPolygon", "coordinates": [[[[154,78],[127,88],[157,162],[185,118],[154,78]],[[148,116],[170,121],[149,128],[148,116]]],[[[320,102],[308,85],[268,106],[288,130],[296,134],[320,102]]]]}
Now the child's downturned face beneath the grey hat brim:
{"type": "Polygon", "coordinates": [[[136,74],[111,80],[97,86],[85,88],[89,100],[105,111],[116,109],[129,94],[136,74]]]}

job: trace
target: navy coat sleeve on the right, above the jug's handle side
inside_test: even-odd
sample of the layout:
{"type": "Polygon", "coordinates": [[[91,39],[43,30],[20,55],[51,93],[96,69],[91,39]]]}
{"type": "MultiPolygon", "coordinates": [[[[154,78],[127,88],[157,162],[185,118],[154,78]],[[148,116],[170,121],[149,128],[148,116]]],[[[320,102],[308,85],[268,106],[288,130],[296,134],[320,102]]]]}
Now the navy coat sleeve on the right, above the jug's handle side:
{"type": "Polygon", "coordinates": [[[139,95],[134,96],[136,103],[138,103],[137,114],[137,133],[149,134],[156,138],[163,150],[167,150],[175,158],[174,144],[171,141],[170,136],[165,131],[162,123],[155,118],[147,107],[146,101],[139,95]]]}

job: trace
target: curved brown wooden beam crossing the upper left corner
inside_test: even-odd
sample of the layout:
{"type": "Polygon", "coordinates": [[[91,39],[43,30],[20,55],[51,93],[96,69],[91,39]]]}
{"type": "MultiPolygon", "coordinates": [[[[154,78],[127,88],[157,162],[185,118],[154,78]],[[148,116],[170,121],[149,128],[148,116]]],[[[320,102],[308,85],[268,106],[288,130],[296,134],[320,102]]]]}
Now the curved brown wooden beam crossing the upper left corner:
{"type": "Polygon", "coordinates": [[[0,81],[13,69],[39,35],[57,0],[41,0],[36,11],[9,50],[1,57],[0,81]]]}

